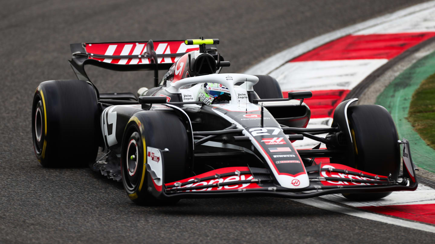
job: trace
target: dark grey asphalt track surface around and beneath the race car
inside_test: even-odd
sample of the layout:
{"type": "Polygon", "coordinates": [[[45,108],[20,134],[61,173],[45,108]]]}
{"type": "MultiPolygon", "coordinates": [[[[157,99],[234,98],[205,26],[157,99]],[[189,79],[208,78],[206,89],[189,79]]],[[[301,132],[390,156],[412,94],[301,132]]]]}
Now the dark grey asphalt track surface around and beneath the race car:
{"type": "MultiPolygon", "coordinates": [[[[88,168],[41,167],[30,127],[37,85],[75,78],[70,43],[219,38],[231,61],[224,72],[241,72],[312,37],[419,2],[2,0],[0,243],[433,243],[433,233],[281,198],[139,207],[120,183],[88,168]]],[[[152,84],[152,73],[89,74],[102,92],[152,84]]],[[[65,157],[80,160],[80,145],[65,148],[65,157]]]]}

